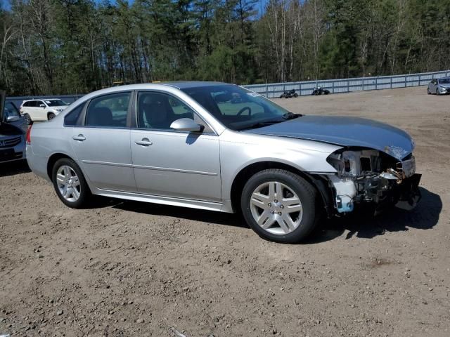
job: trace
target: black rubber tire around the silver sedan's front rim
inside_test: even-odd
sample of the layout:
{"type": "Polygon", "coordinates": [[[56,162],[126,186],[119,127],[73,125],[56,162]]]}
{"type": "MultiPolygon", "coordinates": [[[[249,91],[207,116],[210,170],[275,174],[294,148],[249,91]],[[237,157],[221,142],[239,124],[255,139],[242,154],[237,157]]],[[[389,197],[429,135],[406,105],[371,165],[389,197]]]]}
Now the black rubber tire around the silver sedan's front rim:
{"type": "Polygon", "coordinates": [[[319,221],[317,195],[316,189],[308,183],[307,180],[304,180],[297,174],[282,169],[268,169],[256,173],[255,176],[252,176],[245,184],[241,194],[240,207],[245,221],[259,237],[284,244],[295,244],[306,239],[319,221]],[[250,209],[252,193],[259,185],[270,181],[282,183],[293,190],[302,204],[302,218],[300,224],[295,230],[287,234],[273,234],[264,230],[252,216],[252,210],[250,209]]]}

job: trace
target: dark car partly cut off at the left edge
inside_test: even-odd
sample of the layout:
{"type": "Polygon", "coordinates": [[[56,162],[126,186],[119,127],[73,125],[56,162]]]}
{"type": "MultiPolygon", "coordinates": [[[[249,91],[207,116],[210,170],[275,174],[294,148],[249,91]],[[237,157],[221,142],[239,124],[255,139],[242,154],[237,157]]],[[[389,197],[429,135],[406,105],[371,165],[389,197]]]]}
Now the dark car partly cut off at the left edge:
{"type": "Polygon", "coordinates": [[[23,117],[13,103],[5,100],[5,91],[0,91],[0,163],[25,159],[23,117]]]}

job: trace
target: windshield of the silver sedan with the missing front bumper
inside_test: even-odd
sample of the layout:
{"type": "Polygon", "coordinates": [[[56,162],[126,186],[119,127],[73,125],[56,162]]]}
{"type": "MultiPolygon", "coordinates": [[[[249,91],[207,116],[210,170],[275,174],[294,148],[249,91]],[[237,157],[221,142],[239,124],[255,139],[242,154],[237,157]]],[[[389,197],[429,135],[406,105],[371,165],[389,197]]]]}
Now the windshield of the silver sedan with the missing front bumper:
{"type": "Polygon", "coordinates": [[[257,128],[300,117],[258,93],[233,84],[182,90],[232,130],[257,128]]]}

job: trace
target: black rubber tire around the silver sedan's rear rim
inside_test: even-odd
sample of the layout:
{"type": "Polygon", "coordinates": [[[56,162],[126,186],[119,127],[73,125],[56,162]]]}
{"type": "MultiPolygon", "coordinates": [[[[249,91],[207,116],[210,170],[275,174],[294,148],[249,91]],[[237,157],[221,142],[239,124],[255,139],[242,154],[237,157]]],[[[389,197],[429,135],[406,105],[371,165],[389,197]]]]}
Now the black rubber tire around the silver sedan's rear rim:
{"type": "Polygon", "coordinates": [[[75,161],[69,158],[61,158],[56,161],[56,163],[53,165],[52,173],[51,173],[51,180],[53,182],[53,188],[55,189],[56,195],[58,195],[58,198],[60,201],[63,201],[63,204],[66,206],[71,207],[72,209],[82,209],[86,204],[88,203],[89,199],[91,198],[91,190],[89,190],[89,186],[86,183],[86,179],[83,176],[82,170],[79,169],[79,166],[75,161]],[[58,173],[58,169],[60,169],[61,166],[69,166],[70,169],[75,171],[75,173],[78,176],[79,179],[79,198],[76,201],[68,201],[63,197],[63,194],[61,194],[60,189],[58,187],[58,183],[56,180],[56,174],[58,173]]]}

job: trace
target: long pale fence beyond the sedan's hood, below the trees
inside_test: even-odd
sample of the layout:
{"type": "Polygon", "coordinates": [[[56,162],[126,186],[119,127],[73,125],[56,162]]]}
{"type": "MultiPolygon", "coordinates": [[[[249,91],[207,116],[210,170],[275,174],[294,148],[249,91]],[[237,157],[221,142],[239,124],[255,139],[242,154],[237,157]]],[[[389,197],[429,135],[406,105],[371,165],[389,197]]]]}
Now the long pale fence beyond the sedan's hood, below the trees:
{"type": "Polygon", "coordinates": [[[295,89],[299,95],[311,95],[316,86],[321,86],[330,93],[349,93],[351,91],[406,88],[408,86],[426,86],[432,79],[450,77],[450,70],[442,72],[423,72],[379,77],[356,77],[354,79],[326,79],[318,81],[285,82],[271,84],[252,84],[243,86],[265,95],[267,98],[279,97],[284,91],[295,89]]]}

